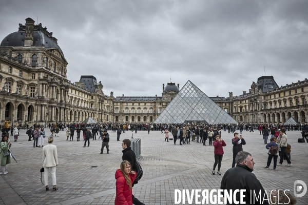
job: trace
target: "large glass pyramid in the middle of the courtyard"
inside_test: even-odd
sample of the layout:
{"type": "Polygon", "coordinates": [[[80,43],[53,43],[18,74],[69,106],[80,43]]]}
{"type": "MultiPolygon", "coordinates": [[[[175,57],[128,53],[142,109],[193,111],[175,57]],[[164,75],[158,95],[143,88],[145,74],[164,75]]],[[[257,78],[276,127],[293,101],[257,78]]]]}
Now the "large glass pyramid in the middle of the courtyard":
{"type": "Polygon", "coordinates": [[[204,94],[190,80],[184,85],[154,123],[182,124],[206,122],[207,124],[237,124],[228,113],[204,94]]]}

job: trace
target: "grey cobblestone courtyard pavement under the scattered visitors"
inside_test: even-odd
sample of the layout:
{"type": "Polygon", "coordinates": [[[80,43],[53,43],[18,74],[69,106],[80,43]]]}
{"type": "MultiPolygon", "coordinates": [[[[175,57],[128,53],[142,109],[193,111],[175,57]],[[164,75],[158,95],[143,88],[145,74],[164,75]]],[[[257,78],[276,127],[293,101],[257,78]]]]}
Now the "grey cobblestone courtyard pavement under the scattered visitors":
{"type": "MultiPolygon", "coordinates": [[[[47,136],[50,135],[49,130],[46,131],[47,136]]],[[[83,148],[83,137],[81,141],[76,141],[75,133],[74,140],[67,141],[65,131],[61,131],[59,137],[54,137],[53,143],[57,146],[59,159],[59,166],[56,167],[59,190],[47,192],[41,183],[42,147],[33,148],[33,141],[28,141],[25,133],[26,130],[21,130],[17,142],[12,142],[11,151],[18,163],[12,160],[7,166],[9,173],[0,177],[26,204],[114,204],[114,173],[122,160],[121,143],[122,139],[130,138],[132,132],[123,133],[121,141],[117,141],[116,133],[109,131],[109,154],[106,150],[100,154],[101,140],[98,138],[91,139],[90,147],[83,148]]],[[[292,145],[293,166],[285,167],[284,161],[276,172],[273,171],[273,163],[270,169],[263,169],[267,150],[262,135],[257,131],[244,131],[242,135],[247,143],[243,149],[253,155],[256,162],[253,173],[264,189],[289,189],[293,193],[295,180],[303,180],[308,184],[308,179],[304,177],[308,169],[308,144],[297,142],[297,138],[301,137],[300,132],[287,132],[292,145]]],[[[133,137],[141,138],[141,153],[144,157],[140,159],[144,174],[138,185],[133,187],[133,194],[145,204],[174,204],[175,189],[219,189],[223,174],[232,165],[233,134],[227,132],[222,131],[222,139],[227,144],[222,160],[222,176],[211,174],[213,146],[203,146],[196,141],[183,146],[177,141],[177,145],[174,145],[172,140],[165,142],[164,134],[160,131],[151,131],[150,134],[147,131],[133,132],[133,137]]],[[[13,137],[10,139],[13,141],[13,137]]],[[[47,137],[44,143],[47,144],[47,137]]],[[[5,204],[3,199],[0,198],[0,204],[5,204]]],[[[308,193],[298,198],[298,204],[307,203],[308,193]]]]}

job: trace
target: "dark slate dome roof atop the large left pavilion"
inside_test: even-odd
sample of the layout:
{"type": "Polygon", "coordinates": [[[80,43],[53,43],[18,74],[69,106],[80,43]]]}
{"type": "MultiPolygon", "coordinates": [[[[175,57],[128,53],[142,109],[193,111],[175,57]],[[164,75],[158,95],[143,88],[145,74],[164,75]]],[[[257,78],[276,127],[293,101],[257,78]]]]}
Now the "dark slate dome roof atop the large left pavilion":
{"type": "MultiPolygon", "coordinates": [[[[24,46],[25,31],[17,31],[7,35],[1,42],[0,46],[24,46]]],[[[44,46],[45,48],[57,48],[64,56],[61,48],[48,35],[42,31],[34,31],[33,46],[44,46]]]]}

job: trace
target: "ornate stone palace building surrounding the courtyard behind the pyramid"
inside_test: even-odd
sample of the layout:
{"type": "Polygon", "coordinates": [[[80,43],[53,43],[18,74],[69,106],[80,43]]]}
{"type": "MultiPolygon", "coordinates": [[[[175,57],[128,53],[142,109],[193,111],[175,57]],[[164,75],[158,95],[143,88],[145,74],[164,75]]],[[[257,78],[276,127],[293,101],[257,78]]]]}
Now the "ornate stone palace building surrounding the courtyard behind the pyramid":
{"type": "MultiPolygon", "coordinates": [[[[26,19],[0,44],[0,120],[12,124],[82,122],[153,122],[180,91],[163,84],[162,96],[105,95],[101,81],[82,75],[71,83],[68,62],[57,39],[42,24],[26,19]]],[[[308,81],[278,87],[273,76],[253,82],[249,92],[210,97],[238,122],[306,122],[308,81]]]]}

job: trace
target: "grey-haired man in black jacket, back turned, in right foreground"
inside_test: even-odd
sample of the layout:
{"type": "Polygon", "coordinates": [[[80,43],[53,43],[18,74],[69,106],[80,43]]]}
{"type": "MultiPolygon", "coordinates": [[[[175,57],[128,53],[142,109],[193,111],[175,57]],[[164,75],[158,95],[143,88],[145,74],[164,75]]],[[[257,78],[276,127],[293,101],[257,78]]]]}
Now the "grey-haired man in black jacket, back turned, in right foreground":
{"type": "MultiPolygon", "coordinates": [[[[233,193],[235,190],[243,189],[246,190],[246,192],[243,192],[245,195],[243,201],[246,204],[268,204],[267,195],[260,181],[252,173],[255,165],[252,155],[248,152],[240,151],[236,156],[236,163],[236,167],[228,169],[222,177],[220,189],[232,190],[232,196],[234,196],[233,193]],[[259,193],[261,197],[258,199],[255,198],[254,196],[258,197],[259,193]]],[[[232,199],[232,201],[227,201],[227,204],[235,204],[236,200],[239,202],[241,199],[240,192],[232,199]]]]}

